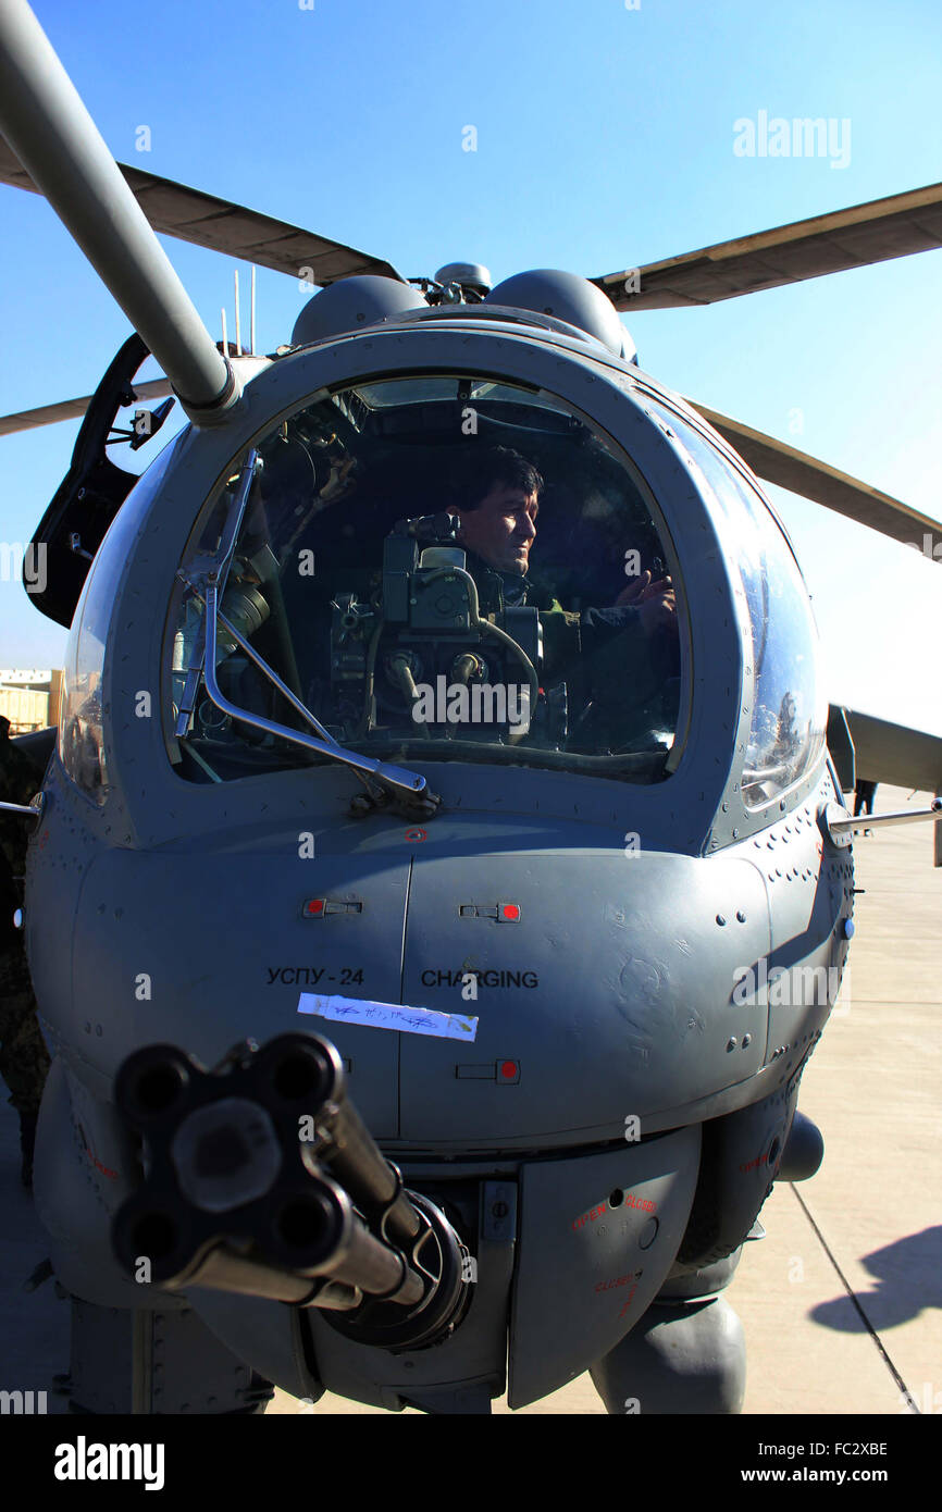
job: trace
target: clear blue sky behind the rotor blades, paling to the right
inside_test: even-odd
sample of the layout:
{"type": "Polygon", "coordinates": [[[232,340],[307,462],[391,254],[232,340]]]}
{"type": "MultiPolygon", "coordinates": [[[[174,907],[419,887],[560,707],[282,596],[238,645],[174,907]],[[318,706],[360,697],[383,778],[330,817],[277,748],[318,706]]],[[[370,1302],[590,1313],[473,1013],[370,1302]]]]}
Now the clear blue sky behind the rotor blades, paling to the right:
{"type": "MultiPolygon", "coordinates": [[[[596,275],[942,178],[937,0],[302,3],[35,11],[118,159],[405,275],[454,259],[494,278],[596,275]],[[850,122],[848,160],[736,156],[733,122],[761,110],[850,122]]],[[[38,197],[0,186],[0,413],[91,392],[125,318],[38,197]]],[[[222,304],[231,334],[231,259],[165,246],[213,336],[222,304]]],[[[940,281],[942,253],[930,253],[629,324],[641,366],[671,387],[939,519],[940,281]]],[[[289,339],[301,304],[295,280],[259,272],[263,351],[289,339]]],[[[76,431],[2,442],[0,541],[29,540],[76,431]]],[[[773,499],[812,590],[832,694],[942,733],[940,565],[773,499]]],[[[0,581],[0,667],[60,665],[64,643],[0,581]]]]}

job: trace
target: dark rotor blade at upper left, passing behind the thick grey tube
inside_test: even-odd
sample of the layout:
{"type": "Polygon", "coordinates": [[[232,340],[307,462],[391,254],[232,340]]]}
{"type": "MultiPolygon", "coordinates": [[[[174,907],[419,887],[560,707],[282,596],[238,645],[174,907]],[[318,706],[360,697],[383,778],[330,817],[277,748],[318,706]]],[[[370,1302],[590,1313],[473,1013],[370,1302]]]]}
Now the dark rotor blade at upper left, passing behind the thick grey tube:
{"type": "MultiPolygon", "coordinates": [[[[328,284],[351,274],[383,274],[404,281],[392,263],[358,253],[342,242],[331,242],[298,225],[259,215],[228,200],[187,189],[172,178],[157,178],[139,168],[118,163],[138,204],[154,231],[178,236],[195,246],[207,246],[228,257],[239,257],[260,268],[328,284]]],[[[0,138],[0,183],[39,194],[12,148],[0,138]]]]}

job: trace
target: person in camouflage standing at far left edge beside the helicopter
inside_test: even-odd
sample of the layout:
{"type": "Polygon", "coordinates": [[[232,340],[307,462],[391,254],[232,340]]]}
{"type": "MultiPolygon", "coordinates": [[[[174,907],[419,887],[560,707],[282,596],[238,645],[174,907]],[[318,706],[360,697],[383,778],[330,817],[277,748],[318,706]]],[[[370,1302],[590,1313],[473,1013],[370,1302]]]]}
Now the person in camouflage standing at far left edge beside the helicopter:
{"type": "MultiPolygon", "coordinates": [[[[42,771],[11,741],[9,720],[0,715],[0,798],[27,804],[41,785],[42,771]]],[[[26,847],[32,829],[29,820],[0,810],[0,1077],[20,1114],[24,1187],[32,1187],[36,1117],[50,1066],[36,1019],[23,933],[14,925],[14,912],[23,904],[26,847]]]]}

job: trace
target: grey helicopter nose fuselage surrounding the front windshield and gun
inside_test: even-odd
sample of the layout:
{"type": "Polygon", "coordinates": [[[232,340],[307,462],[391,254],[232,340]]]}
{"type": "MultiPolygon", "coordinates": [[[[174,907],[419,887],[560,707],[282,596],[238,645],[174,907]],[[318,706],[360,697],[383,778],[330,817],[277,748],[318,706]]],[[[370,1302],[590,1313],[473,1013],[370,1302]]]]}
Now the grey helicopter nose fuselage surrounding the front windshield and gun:
{"type": "MultiPolygon", "coordinates": [[[[599,343],[467,311],[296,351],[246,386],[227,425],[165,449],[89,573],[30,847],[27,950],[56,1051],[36,1201],[76,1296],[181,1305],[129,1279],[109,1247],[109,1219],[139,1178],[112,1101],[124,1058],[160,1042],[209,1066],[236,1040],[305,1027],[337,1045],[407,1184],[463,1226],[478,1285],[455,1334],[414,1355],[305,1314],[304,1368],[287,1309],[192,1293],[189,1306],[287,1390],[324,1383],[386,1406],[417,1385],[497,1394],[510,1335],[519,1406],[611,1352],[668,1278],[742,1243],[780,1166],[853,913],[850,851],[821,824],[842,797],[813,686],[807,739],[788,756],[795,696],[774,637],[797,590],[761,603],[756,575],[777,579],[755,555],[750,579],[738,556],[744,488],[759,499],[750,529],[785,573],[789,547],[755,479],[676,396],[599,343]],[[351,816],[355,785],[336,762],[183,777],[168,605],[207,500],[318,395],[451,372],[552,393],[649,491],[679,602],[661,780],[626,780],[617,762],[567,770],[564,742],[544,764],[413,745],[399,765],[442,803],[410,818],[351,816]],[[774,699],[762,658],[785,677],[774,699]],[[340,1002],[363,1012],[343,1022],[340,1002]],[[373,1027],[364,1010],[376,1005],[463,1016],[473,1033],[373,1027]]],[[[810,623],[806,594],[801,614],[810,623]]],[[[806,637],[800,677],[813,677],[810,655],[806,637]]]]}

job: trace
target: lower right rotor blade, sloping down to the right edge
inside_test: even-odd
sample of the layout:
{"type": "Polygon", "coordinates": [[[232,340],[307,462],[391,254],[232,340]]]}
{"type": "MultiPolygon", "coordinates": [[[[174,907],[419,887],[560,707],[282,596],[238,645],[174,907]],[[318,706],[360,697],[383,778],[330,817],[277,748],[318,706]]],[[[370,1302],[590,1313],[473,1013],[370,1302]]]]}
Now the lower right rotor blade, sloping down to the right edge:
{"type": "Polygon", "coordinates": [[[806,452],[797,452],[794,446],[764,435],[762,431],[753,431],[741,420],[730,420],[727,414],[708,410],[693,399],[686,404],[697,410],[765,482],[774,482],[779,488],[812,499],[813,503],[823,503],[827,510],[856,520],[857,525],[868,525],[871,531],[880,531],[882,535],[901,541],[903,546],[921,550],[924,534],[942,534],[939,520],[921,514],[909,503],[892,499],[888,493],[880,493],[878,488],[871,488],[869,484],[838,472],[836,467],[829,467],[806,452]]]}

